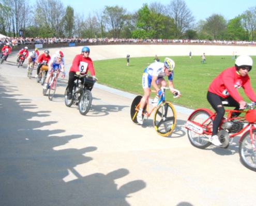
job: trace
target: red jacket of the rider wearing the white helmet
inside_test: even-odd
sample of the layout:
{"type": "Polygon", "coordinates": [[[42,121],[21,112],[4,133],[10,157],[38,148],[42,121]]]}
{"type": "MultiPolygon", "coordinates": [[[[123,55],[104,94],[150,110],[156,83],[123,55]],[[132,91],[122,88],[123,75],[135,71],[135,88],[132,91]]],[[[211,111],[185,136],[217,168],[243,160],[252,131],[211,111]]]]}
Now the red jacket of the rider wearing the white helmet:
{"type": "Polygon", "coordinates": [[[240,87],[244,89],[246,96],[248,96],[251,101],[256,101],[256,95],[251,88],[249,76],[240,76],[237,74],[235,66],[232,66],[222,71],[212,83],[210,83],[208,91],[222,98],[227,98],[231,95],[238,102],[243,99],[237,91],[240,87]]]}

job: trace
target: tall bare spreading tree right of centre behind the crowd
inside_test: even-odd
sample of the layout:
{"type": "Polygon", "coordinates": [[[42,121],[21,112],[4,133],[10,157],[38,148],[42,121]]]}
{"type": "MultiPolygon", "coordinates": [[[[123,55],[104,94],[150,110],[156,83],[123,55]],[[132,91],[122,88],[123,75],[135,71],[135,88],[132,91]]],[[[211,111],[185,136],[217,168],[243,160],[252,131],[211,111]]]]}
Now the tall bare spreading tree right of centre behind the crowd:
{"type": "Polygon", "coordinates": [[[194,22],[194,16],[183,0],[173,0],[169,5],[168,13],[174,20],[174,37],[182,38],[184,32],[190,29],[194,22]]]}

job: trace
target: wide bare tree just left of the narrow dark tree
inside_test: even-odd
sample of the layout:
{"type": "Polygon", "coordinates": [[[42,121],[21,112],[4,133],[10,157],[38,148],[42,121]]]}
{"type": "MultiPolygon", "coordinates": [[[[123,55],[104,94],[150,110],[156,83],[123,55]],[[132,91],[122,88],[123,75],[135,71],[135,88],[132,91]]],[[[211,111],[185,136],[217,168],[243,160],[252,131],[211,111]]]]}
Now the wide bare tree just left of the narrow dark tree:
{"type": "Polygon", "coordinates": [[[34,18],[55,37],[63,36],[66,8],[60,0],[37,0],[34,18]]]}

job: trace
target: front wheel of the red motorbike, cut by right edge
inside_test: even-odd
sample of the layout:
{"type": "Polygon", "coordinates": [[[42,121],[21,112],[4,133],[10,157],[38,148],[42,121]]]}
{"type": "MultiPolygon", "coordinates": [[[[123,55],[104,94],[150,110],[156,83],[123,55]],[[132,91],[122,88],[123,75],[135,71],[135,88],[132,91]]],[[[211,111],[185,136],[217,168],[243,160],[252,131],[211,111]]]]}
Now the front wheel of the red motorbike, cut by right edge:
{"type": "Polygon", "coordinates": [[[251,142],[250,131],[243,135],[239,145],[239,156],[246,168],[256,171],[256,151],[253,149],[253,147],[256,147],[256,129],[252,130],[252,138],[251,142]]]}

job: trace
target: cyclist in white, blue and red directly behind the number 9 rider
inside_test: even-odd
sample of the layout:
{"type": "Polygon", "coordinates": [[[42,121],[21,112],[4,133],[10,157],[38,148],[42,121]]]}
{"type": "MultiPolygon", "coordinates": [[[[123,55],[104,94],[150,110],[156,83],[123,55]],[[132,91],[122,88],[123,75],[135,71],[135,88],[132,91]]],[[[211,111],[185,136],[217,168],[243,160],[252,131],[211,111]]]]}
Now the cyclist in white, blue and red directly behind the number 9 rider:
{"type": "MultiPolygon", "coordinates": [[[[57,50],[56,53],[52,56],[51,60],[49,61],[48,74],[47,74],[47,77],[46,77],[46,81],[43,84],[43,90],[47,90],[48,82],[49,82],[49,80],[52,76],[52,73],[53,73],[53,71],[51,71],[51,70],[56,70],[57,68],[61,69],[62,72],[63,72],[62,78],[65,78],[64,66],[65,66],[64,54],[61,50],[57,50]]],[[[57,73],[56,78],[58,78],[58,74],[59,74],[59,72],[57,73]]]]}

